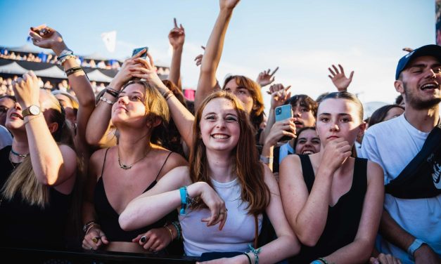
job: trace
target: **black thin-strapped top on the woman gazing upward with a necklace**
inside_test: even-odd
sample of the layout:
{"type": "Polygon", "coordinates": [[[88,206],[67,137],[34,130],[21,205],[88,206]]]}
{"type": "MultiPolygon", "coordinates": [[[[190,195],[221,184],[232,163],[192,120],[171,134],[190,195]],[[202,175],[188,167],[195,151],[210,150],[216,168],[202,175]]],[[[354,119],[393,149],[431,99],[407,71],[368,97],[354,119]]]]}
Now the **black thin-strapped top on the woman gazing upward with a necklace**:
{"type": "MultiPolygon", "coordinates": [[[[134,239],[138,235],[145,233],[153,228],[164,226],[167,220],[177,220],[177,213],[176,210],[174,210],[172,213],[158,220],[156,223],[153,223],[152,225],[148,225],[146,227],[142,227],[132,231],[122,230],[120,227],[120,223],[118,223],[118,218],[120,217],[120,215],[113,209],[112,205],[108,201],[106,190],[104,189],[103,172],[104,172],[104,165],[106,164],[107,152],[108,150],[106,150],[106,154],[104,156],[103,169],[101,170],[101,177],[98,179],[98,182],[96,183],[95,186],[94,205],[95,205],[96,215],[98,216],[98,223],[100,223],[101,225],[101,230],[103,230],[103,232],[107,236],[107,239],[110,242],[132,242],[132,239],[134,239]]],[[[170,154],[172,154],[172,152],[170,152],[167,155],[167,158],[162,164],[161,169],[158,171],[158,175],[156,175],[155,180],[153,180],[153,183],[151,183],[151,185],[149,185],[147,189],[144,190],[144,192],[147,192],[148,190],[153,188],[153,186],[155,186],[155,184],[157,183],[158,176],[160,175],[162,168],[167,162],[167,159],[170,157],[170,154]]]]}

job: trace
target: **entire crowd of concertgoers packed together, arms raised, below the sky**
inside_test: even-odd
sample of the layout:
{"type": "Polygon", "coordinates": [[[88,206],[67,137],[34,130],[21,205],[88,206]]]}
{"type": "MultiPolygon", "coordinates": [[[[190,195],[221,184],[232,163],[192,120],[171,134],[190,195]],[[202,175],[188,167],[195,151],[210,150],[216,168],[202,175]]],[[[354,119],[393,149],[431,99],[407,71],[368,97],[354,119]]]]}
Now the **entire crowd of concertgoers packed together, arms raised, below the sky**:
{"type": "Polygon", "coordinates": [[[167,80],[142,50],[98,93],[60,32],[32,27],[73,93],[41,88],[31,71],[0,97],[1,247],[200,263],[441,262],[441,46],[401,58],[400,98],[364,119],[341,65],[328,69],[335,91],[316,100],[274,84],[277,69],[219,84],[238,2],[219,0],[193,101],[182,94],[176,20],[167,80]],[[284,105],[291,117],[278,120],[284,105]]]}

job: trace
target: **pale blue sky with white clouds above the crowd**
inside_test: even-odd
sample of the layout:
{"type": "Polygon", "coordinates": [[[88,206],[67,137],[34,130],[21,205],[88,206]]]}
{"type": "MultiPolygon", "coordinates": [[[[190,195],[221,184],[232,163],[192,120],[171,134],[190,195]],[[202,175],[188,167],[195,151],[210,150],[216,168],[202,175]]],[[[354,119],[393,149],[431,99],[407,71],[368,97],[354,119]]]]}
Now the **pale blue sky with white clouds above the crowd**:
{"type": "MultiPolygon", "coordinates": [[[[22,46],[29,27],[45,23],[79,55],[124,59],[133,48],[148,46],[157,65],[170,65],[167,34],[177,18],[186,29],[183,84],[195,88],[199,69],[193,59],[207,42],[219,1],[1,0],[0,10],[0,46],[22,46]],[[115,53],[101,40],[101,33],[112,30],[115,53]]],[[[243,0],[231,18],[217,77],[255,79],[279,66],[277,82],[316,98],[333,91],[328,67],[340,63],[347,74],[355,71],[350,91],[363,103],[392,103],[402,48],[434,43],[435,0],[243,0]]]]}

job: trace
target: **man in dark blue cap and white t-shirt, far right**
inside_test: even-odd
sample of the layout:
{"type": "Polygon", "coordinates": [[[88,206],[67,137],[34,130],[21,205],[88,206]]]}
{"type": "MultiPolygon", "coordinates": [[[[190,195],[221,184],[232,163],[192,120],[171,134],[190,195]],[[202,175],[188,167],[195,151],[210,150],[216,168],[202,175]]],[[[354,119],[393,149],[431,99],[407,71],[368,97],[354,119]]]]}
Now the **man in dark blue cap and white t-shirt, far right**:
{"type": "Polygon", "coordinates": [[[404,114],[369,127],[360,154],[385,173],[376,249],[402,263],[441,263],[441,46],[401,58],[395,89],[404,114]]]}

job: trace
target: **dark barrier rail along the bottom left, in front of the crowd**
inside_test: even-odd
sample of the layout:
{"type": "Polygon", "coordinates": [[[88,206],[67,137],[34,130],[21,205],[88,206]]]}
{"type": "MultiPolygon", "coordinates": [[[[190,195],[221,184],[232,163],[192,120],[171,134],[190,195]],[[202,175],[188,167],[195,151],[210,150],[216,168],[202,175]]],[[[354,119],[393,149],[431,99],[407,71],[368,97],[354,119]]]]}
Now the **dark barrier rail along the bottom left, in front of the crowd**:
{"type": "Polygon", "coordinates": [[[0,248],[1,258],[10,263],[110,264],[110,263],[195,263],[198,258],[113,251],[51,251],[43,249],[0,248]]]}

